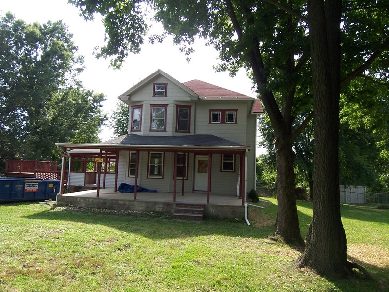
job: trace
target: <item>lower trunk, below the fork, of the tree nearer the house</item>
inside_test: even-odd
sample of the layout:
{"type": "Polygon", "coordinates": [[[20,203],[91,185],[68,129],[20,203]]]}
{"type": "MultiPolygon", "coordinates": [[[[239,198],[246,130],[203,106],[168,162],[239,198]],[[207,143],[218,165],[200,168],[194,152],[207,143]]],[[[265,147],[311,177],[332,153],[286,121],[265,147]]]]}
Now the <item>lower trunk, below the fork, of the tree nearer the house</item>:
{"type": "Polygon", "coordinates": [[[295,173],[293,162],[295,153],[287,138],[275,139],[277,158],[277,178],[275,189],[278,200],[277,230],[275,234],[282,237],[286,243],[297,246],[304,246],[301,237],[299,219],[297,216],[297,206],[295,199],[295,173]]]}

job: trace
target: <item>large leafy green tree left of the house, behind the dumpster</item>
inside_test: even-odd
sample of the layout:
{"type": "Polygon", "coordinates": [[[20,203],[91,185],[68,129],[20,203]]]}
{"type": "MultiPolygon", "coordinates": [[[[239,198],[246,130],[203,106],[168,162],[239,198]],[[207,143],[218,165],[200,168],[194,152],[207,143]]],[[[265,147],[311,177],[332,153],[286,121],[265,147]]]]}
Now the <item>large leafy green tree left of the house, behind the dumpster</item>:
{"type": "Polygon", "coordinates": [[[104,96],[82,88],[83,58],[66,25],[7,13],[0,44],[0,167],[5,159],[57,160],[56,142],[97,142],[104,96]]]}

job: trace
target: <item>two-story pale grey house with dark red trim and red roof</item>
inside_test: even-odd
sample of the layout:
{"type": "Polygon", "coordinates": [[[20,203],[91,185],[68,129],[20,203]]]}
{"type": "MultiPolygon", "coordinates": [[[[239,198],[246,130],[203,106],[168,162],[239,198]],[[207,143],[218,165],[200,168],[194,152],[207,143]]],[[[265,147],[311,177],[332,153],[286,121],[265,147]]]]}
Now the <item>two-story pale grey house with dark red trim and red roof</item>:
{"type": "MultiPolygon", "coordinates": [[[[97,144],[58,143],[69,186],[122,183],[176,194],[238,196],[255,188],[259,99],[157,70],[119,96],[128,134],[97,144]],[[96,159],[97,158],[97,159],[96,159]]],[[[141,189],[135,188],[134,196],[141,189]]]]}

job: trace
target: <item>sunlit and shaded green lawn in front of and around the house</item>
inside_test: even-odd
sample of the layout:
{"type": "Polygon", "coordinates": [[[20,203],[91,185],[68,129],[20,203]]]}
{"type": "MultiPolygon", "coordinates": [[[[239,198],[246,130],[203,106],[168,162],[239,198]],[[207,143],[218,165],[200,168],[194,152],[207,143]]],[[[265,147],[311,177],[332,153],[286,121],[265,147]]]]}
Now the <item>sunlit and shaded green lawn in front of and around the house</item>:
{"type": "MultiPolygon", "coordinates": [[[[271,240],[275,199],[244,220],[36,203],[0,205],[0,291],[387,291],[389,211],[342,205],[350,260],[373,280],[296,269],[299,251],[271,240]]],[[[263,204],[263,203],[262,203],[263,204]]],[[[298,201],[302,235],[312,216],[298,201]]]]}

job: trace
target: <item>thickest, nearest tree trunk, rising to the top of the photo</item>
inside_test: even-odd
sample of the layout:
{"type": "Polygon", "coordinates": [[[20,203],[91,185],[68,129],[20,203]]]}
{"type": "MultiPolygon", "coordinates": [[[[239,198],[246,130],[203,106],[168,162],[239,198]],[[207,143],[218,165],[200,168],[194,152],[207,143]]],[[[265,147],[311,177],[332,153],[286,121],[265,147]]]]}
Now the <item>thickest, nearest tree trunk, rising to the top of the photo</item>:
{"type": "Polygon", "coordinates": [[[320,274],[345,275],[346,234],[340,217],[339,96],[341,1],[308,0],[314,92],[315,171],[313,218],[298,259],[320,274]]]}

